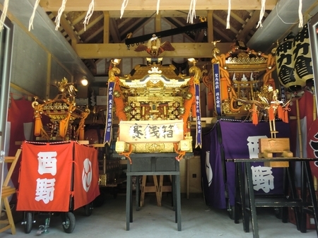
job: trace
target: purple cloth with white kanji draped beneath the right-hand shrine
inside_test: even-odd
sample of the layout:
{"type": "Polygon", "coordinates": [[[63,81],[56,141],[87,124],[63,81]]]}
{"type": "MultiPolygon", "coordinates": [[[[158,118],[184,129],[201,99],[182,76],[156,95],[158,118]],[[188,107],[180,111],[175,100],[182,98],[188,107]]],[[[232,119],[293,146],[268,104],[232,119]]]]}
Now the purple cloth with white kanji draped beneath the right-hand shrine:
{"type": "MultiPolygon", "coordinates": [[[[290,137],[290,125],[276,121],[278,138],[290,137]]],[[[202,135],[201,174],[206,203],[215,208],[227,208],[226,199],[234,206],[235,164],[231,158],[258,157],[259,138],[271,138],[269,123],[220,120],[202,135]],[[227,195],[225,195],[227,194],[227,195]]],[[[278,194],[283,191],[283,169],[264,167],[264,162],[252,163],[254,192],[278,194]]]]}

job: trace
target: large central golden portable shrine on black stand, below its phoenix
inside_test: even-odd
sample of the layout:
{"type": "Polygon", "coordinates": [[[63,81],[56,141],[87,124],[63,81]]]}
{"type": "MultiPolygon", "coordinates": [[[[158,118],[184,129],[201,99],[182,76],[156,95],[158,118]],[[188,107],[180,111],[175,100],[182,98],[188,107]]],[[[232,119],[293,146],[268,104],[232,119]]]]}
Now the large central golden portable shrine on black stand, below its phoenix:
{"type": "Polygon", "coordinates": [[[199,82],[201,70],[193,62],[189,73],[178,74],[175,66],[162,65],[162,58],[148,59],[125,77],[117,61],[109,72],[105,143],[112,136],[113,109],[119,120],[115,150],[130,153],[176,152],[181,159],[192,152],[190,122],[196,117],[196,146],[201,146],[199,82]]]}

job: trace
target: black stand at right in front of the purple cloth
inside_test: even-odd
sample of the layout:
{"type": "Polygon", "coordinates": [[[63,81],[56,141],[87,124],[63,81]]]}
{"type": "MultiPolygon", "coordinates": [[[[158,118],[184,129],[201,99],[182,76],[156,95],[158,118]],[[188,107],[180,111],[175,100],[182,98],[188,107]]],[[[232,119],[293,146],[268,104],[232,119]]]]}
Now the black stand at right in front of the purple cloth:
{"type": "Polygon", "coordinates": [[[280,207],[283,208],[283,222],[287,222],[287,212],[284,208],[295,208],[296,225],[300,232],[306,232],[306,213],[314,216],[316,231],[318,234],[318,205],[314,191],[312,172],[310,170],[310,161],[316,161],[317,158],[299,158],[299,157],[269,157],[255,159],[229,159],[226,162],[235,162],[236,170],[236,189],[235,191],[235,223],[238,223],[238,210],[242,212],[242,223],[245,232],[249,232],[249,217],[252,218],[253,237],[259,238],[259,227],[257,223],[257,207],[280,207]],[[252,162],[269,162],[269,161],[300,161],[302,164],[302,182],[300,198],[295,187],[294,172],[291,167],[285,168],[286,185],[283,194],[261,195],[254,194],[252,180],[252,162]],[[307,201],[307,190],[309,191],[310,201],[307,201]],[[288,194],[289,193],[289,194],[288,194]]]}

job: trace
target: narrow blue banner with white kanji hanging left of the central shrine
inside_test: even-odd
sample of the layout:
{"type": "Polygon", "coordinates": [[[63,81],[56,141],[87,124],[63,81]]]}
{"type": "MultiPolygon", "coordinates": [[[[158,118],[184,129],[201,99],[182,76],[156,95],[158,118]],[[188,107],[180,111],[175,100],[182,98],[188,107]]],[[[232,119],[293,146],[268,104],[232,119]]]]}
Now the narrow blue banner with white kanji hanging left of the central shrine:
{"type": "Polygon", "coordinates": [[[114,85],[115,82],[108,83],[107,112],[104,137],[104,143],[107,143],[108,145],[110,145],[110,141],[112,140],[112,108],[114,107],[114,85]]]}

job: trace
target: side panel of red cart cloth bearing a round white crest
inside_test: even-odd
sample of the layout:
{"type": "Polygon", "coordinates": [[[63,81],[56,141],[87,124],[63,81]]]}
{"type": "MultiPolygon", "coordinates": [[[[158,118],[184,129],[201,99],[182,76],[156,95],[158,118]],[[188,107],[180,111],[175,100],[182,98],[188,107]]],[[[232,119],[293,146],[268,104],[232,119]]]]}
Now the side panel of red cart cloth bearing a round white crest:
{"type": "Polygon", "coordinates": [[[75,143],[74,160],[74,209],[77,209],[100,195],[98,150],[75,143]]]}

